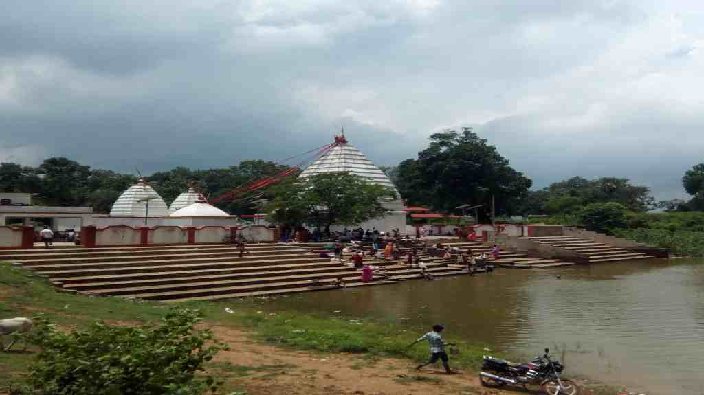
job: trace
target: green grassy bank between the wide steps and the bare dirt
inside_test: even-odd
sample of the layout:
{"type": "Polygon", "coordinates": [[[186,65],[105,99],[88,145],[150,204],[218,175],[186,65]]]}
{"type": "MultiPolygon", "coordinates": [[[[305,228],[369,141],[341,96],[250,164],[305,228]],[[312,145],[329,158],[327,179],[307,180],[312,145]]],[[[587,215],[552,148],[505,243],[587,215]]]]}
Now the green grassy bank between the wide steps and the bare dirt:
{"type": "MultiPolygon", "coordinates": [[[[187,302],[189,308],[201,309],[206,323],[249,330],[261,342],[292,349],[320,352],[364,354],[369,357],[392,356],[423,361],[427,347],[407,346],[422,333],[389,323],[353,319],[353,317],[318,316],[296,311],[268,309],[271,299],[234,299],[227,302],[187,302]],[[225,307],[233,311],[227,313],[225,307]]],[[[146,322],[161,318],[170,304],[118,297],[85,297],[59,292],[42,277],[0,264],[0,318],[35,316],[43,313],[58,325],[75,328],[96,319],[146,322]]],[[[484,345],[458,342],[452,355],[453,365],[477,368],[484,345]]],[[[25,371],[30,354],[8,354],[0,358],[0,382],[12,373],[25,371]]],[[[0,386],[1,387],[1,386],[0,386]]]]}

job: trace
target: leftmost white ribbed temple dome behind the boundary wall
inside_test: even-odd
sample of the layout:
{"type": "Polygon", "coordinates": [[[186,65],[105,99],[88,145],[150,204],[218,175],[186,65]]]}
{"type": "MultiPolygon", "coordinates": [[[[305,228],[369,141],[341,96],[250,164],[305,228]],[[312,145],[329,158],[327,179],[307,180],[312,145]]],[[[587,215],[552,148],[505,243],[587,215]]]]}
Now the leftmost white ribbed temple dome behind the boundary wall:
{"type": "Polygon", "coordinates": [[[168,209],[156,190],[144,182],[144,179],[139,179],[115,200],[110,216],[168,216],[168,209]],[[146,212],[147,201],[149,213],[146,212]]]}

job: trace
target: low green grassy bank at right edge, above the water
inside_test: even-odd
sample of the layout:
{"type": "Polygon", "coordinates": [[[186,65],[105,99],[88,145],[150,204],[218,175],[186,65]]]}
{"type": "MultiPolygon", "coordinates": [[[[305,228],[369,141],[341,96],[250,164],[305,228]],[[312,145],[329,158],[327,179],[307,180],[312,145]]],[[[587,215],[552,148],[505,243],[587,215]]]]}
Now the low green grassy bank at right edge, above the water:
{"type": "Polygon", "coordinates": [[[639,228],[615,229],[614,235],[655,247],[667,248],[672,254],[704,257],[704,232],[639,228]]]}

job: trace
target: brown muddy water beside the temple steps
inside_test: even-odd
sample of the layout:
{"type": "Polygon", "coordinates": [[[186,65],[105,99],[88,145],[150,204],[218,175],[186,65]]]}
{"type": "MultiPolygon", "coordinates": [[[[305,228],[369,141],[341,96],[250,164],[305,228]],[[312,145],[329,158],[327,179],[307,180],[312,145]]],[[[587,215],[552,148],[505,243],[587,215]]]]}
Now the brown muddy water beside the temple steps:
{"type": "Polygon", "coordinates": [[[704,261],[653,259],[311,292],[275,305],[398,321],[647,394],[704,394],[704,261]],[[560,276],[558,278],[557,276],[560,276]]]}

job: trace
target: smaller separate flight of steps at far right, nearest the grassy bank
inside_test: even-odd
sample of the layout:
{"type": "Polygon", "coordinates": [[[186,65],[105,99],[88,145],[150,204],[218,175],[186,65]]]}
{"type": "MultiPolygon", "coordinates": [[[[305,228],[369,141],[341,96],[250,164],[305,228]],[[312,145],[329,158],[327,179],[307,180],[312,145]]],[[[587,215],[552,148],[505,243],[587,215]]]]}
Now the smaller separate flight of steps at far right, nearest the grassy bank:
{"type": "Polygon", "coordinates": [[[554,236],[535,238],[529,237],[527,239],[543,245],[551,245],[552,247],[563,248],[571,252],[582,254],[589,260],[589,264],[651,258],[650,255],[643,254],[642,252],[613,247],[612,245],[606,245],[603,242],[595,242],[584,238],[554,236]]]}

